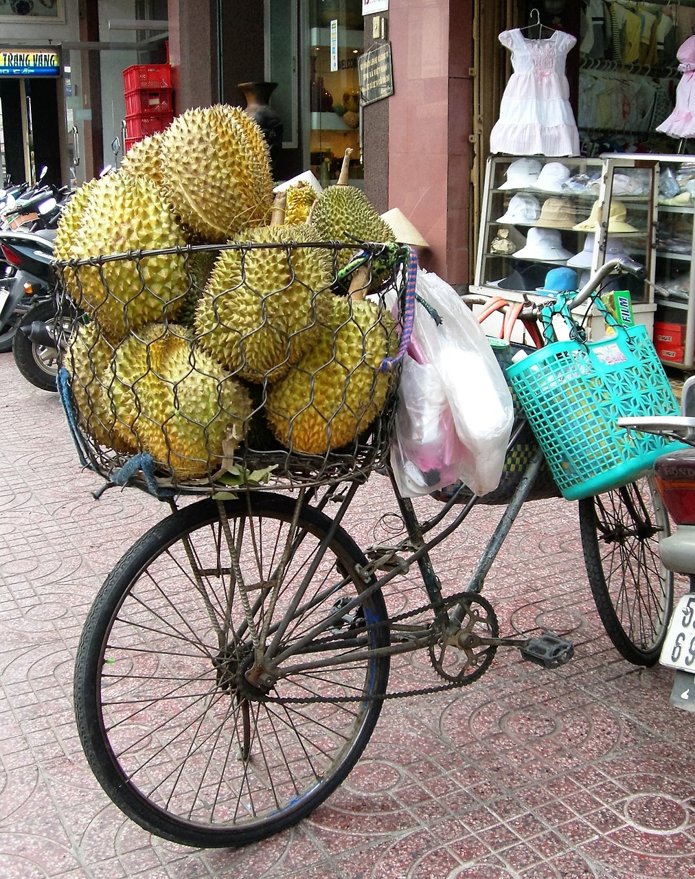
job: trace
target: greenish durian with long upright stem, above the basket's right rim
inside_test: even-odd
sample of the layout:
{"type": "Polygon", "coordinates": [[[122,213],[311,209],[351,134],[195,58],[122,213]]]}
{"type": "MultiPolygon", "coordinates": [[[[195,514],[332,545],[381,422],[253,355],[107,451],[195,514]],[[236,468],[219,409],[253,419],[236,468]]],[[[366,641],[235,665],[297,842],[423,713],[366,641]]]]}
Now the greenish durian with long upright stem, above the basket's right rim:
{"type": "MultiPolygon", "coordinates": [[[[395,242],[393,229],[376,213],[365,193],[347,185],[352,150],[346,149],[337,184],[327,186],[315,200],[309,222],[318,229],[322,241],[395,242]]],[[[343,268],[351,251],[338,251],[337,262],[343,268]]]]}

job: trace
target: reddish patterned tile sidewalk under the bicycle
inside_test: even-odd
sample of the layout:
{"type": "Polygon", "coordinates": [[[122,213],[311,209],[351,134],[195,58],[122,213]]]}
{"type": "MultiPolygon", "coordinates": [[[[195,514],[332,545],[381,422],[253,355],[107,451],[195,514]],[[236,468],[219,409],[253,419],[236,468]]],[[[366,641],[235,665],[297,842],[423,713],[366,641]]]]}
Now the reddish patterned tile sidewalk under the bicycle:
{"type": "MultiPolygon", "coordinates": [[[[343,787],[256,846],[196,851],[151,837],[90,774],[71,678],[98,585],[167,509],[137,490],[97,502],[98,485],[79,468],[56,396],[0,355],[0,879],[695,876],[695,718],[670,708],[669,672],[612,648],[576,505],[561,501],[528,505],[485,594],[504,633],[574,630],[569,665],[545,672],[500,650],[464,690],[387,702],[343,787]]],[[[388,509],[375,477],[349,530],[383,537],[388,509]]],[[[438,552],[451,592],[493,527],[495,510],[479,513],[438,552]]],[[[395,664],[394,689],[414,681],[437,682],[426,654],[395,664]]]]}

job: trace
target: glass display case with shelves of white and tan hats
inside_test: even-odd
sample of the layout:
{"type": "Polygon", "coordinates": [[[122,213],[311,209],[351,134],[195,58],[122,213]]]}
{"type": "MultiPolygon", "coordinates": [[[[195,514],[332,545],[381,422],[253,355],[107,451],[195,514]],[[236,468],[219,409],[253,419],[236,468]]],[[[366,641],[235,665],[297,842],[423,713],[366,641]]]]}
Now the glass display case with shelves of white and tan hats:
{"type": "MultiPolygon", "coordinates": [[[[626,254],[645,266],[647,280],[611,276],[604,290],[628,289],[635,321],[651,332],[657,185],[651,156],[490,157],[471,292],[540,302],[583,287],[591,271],[626,254]]],[[[605,335],[590,303],[574,316],[589,338],[605,335]]],[[[557,332],[567,338],[564,325],[557,332]]]]}

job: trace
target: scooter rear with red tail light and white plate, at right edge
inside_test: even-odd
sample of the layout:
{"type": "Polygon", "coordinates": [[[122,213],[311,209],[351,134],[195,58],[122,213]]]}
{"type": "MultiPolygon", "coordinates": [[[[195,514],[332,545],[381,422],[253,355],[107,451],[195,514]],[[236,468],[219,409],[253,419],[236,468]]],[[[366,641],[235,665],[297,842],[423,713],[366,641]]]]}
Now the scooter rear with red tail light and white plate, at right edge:
{"type": "Polygon", "coordinates": [[[671,611],[659,662],[676,672],[671,705],[695,713],[695,375],[684,383],[680,416],[619,418],[618,425],[679,439],[692,447],[657,458],[654,475],[676,526],[659,541],[662,565],[690,581],[689,591],[671,611]]]}

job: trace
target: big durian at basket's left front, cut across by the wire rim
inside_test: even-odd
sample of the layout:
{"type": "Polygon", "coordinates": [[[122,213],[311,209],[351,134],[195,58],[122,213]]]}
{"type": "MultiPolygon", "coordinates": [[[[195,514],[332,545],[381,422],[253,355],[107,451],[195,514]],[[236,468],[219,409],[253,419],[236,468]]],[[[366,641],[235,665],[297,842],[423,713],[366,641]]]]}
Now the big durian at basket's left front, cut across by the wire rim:
{"type": "MultiPolygon", "coordinates": [[[[84,187],[83,187],[84,188],[84,187]]],[[[61,258],[183,247],[183,231],[156,185],[117,172],[90,184],[79,216],[63,222],[61,258]]],[[[68,293],[115,341],[144,323],[173,319],[188,289],[181,253],[83,265],[63,273],[68,293]]]]}

